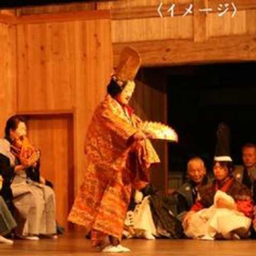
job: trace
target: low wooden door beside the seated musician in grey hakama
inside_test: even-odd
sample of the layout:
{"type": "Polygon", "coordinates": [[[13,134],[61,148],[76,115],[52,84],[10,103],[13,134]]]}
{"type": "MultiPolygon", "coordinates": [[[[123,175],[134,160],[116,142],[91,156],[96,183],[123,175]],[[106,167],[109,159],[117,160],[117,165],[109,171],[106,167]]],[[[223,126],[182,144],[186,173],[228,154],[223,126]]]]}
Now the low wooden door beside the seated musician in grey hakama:
{"type": "Polygon", "coordinates": [[[74,129],[72,115],[28,116],[28,137],[41,150],[41,174],[56,195],[58,222],[67,228],[74,198],[74,129]]]}

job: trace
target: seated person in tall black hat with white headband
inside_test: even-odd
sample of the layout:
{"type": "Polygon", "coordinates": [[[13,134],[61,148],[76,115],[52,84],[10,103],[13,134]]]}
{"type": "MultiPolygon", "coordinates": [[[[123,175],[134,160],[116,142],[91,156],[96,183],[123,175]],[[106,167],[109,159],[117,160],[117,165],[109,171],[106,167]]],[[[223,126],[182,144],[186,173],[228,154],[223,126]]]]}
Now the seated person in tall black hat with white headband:
{"type": "MultiPolygon", "coordinates": [[[[221,124],[218,131],[222,134],[228,130],[221,124]]],[[[221,134],[218,135],[223,139],[221,134]]],[[[223,141],[227,142],[228,139],[224,138],[223,141]]],[[[253,210],[252,196],[246,186],[233,178],[232,171],[229,149],[217,147],[213,164],[215,179],[212,184],[199,188],[199,197],[184,219],[188,237],[205,240],[248,237],[253,210]]]]}

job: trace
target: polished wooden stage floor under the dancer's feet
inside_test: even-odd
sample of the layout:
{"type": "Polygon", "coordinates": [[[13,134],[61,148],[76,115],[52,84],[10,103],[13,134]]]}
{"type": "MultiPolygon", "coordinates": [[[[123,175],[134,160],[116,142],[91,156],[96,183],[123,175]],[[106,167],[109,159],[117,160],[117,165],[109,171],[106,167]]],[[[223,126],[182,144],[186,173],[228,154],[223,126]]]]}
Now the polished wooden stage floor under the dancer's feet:
{"type": "MultiPolygon", "coordinates": [[[[122,244],[129,247],[130,253],[118,255],[254,255],[256,240],[236,241],[193,241],[193,240],[167,240],[153,241],[142,239],[123,240],[122,244]]],[[[84,239],[81,233],[67,233],[56,240],[15,241],[13,246],[0,244],[0,255],[113,255],[102,253],[90,247],[90,242],[84,239]]],[[[115,253],[117,254],[117,253],[115,253]]]]}

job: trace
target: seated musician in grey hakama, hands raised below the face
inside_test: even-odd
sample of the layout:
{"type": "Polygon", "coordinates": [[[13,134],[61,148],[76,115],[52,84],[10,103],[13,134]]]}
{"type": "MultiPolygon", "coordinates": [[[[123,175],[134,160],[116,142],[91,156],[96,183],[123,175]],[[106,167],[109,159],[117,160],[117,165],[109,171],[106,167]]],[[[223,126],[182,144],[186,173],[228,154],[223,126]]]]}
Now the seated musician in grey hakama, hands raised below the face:
{"type": "Polygon", "coordinates": [[[4,178],[2,195],[17,222],[15,235],[22,239],[38,240],[39,235],[54,238],[56,233],[54,192],[48,186],[29,179],[29,173],[38,168],[39,155],[26,161],[21,157],[27,151],[17,147],[26,137],[23,118],[8,119],[5,138],[0,139],[0,169],[4,178]]]}

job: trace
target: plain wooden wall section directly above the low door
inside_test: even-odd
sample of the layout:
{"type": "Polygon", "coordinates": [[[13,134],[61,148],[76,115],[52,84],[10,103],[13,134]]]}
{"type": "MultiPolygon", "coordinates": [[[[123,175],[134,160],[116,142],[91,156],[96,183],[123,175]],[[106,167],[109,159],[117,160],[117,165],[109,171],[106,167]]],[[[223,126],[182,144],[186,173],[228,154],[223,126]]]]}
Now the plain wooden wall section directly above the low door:
{"type": "Polygon", "coordinates": [[[17,25],[18,111],[72,108],[74,52],[74,26],[69,23],[17,25]]]}

